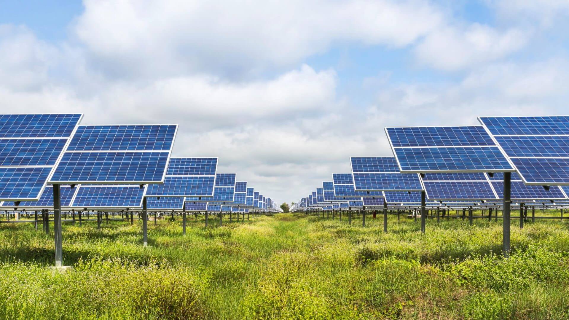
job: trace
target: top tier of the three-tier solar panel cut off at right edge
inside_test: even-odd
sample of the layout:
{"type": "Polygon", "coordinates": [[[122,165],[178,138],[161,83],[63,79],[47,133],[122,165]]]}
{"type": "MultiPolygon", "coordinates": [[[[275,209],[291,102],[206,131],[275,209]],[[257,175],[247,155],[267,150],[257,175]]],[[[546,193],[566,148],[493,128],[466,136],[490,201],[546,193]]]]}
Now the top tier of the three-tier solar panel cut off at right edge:
{"type": "Polygon", "coordinates": [[[480,117],[494,135],[569,134],[569,117],[480,117]]]}

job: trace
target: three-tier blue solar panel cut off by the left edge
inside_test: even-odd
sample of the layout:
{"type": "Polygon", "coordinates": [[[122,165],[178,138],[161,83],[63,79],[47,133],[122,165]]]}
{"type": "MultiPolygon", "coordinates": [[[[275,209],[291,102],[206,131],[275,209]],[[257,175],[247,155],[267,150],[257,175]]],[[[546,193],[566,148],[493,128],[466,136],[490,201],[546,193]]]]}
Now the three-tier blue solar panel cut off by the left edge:
{"type": "Polygon", "coordinates": [[[0,201],[37,201],[83,114],[0,114],[0,201]]]}

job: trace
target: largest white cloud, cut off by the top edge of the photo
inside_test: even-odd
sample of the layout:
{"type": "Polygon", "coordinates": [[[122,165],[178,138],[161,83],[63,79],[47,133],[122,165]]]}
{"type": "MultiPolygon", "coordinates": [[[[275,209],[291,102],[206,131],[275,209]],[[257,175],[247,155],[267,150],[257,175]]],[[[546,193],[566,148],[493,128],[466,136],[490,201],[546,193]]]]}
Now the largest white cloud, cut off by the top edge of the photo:
{"type": "Polygon", "coordinates": [[[442,14],[426,1],[86,0],[73,28],[111,75],[248,73],[297,64],[333,43],[401,47],[442,14]]]}

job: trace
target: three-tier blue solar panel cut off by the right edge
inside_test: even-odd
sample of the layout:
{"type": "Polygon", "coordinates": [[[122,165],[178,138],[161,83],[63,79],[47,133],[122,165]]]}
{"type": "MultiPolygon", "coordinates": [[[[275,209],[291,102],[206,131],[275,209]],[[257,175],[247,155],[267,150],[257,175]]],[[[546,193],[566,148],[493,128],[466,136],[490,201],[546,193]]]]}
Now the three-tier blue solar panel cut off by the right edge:
{"type": "Polygon", "coordinates": [[[569,185],[569,117],[479,117],[523,182],[569,185]]]}

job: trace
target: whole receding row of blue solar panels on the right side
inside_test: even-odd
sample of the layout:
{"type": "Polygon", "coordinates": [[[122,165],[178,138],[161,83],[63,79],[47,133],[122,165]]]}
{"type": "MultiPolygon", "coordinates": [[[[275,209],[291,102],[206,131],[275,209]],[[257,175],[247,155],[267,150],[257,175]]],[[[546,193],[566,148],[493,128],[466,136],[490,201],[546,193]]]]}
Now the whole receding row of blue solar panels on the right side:
{"type": "Polygon", "coordinates": [[[395,157],[352,157],[352,173],[333,174],[321,195],[317,188],[291,210],[417,205],[422,191],[427,206],[491,203],[504,198],[504,173],[513,201],[569,203],[569,117],[479,121],[385,128],[395,157]]]}

